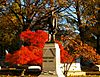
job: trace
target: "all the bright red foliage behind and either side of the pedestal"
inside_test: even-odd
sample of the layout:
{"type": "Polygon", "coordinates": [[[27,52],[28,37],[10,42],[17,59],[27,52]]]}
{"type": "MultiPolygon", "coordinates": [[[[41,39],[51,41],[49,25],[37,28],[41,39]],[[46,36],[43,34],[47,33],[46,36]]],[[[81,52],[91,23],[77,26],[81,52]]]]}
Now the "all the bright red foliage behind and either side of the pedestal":
{"type": "MultiPolygon", "coordinates": [[[[42,51],[45,42],[48,41],[48,34],[42,30],[37,30],[36,32],[26,30],[20,34],[20,38],[23,42],[28,43],[28,45],[22,46],[13,54],[7,54],[5,59],[6,62],[21,65],[42,65],[42,51]]],[[[73,58],[64,50],[62,44],[59,41],[56,42],[61,49],[61,62],[65,63],[72,61],[73,58]]]]}

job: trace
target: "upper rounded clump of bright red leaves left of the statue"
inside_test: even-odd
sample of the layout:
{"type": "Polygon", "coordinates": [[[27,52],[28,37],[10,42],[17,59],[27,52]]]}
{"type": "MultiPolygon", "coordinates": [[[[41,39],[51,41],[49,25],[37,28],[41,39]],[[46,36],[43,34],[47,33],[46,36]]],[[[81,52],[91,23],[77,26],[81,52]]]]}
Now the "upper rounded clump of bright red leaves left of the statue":
{"type": "Polygon", "coordinates": [[[36,32],[27,30],[20,34],[20,38],[23,42],[27,42],[32,46],[43,48],[48,40],[48,34],[42,30],[37,30],[36,32]]]}

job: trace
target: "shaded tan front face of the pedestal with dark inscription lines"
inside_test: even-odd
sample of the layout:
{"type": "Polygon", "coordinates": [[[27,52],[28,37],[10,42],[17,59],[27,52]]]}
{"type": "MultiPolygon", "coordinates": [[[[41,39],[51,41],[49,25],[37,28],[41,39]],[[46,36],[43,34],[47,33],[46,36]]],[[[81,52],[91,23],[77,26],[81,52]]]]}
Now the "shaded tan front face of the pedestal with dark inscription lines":
{"type": "Polygon", "coordinates": [[[44,71],[54,71],[56,69],[55,48],[44,49],[43,68],[44,71]]]}

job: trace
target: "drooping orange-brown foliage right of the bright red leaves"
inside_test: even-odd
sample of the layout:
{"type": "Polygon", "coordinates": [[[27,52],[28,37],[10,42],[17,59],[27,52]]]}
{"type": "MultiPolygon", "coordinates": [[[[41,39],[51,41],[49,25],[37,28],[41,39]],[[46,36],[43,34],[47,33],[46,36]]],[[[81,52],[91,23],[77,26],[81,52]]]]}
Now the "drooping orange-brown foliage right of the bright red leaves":
{"type": "Polygon", "coordinates": [[[79,39],[63,38],[64,42],[69,41],[69,44],[65,45],[65,49],[70,52],[74,57],[84,57],[83,61],[91,60],[94,64],[100,64],[100,55],[96,53],[96,49],[88,44],[83,43],[79,39]]]}

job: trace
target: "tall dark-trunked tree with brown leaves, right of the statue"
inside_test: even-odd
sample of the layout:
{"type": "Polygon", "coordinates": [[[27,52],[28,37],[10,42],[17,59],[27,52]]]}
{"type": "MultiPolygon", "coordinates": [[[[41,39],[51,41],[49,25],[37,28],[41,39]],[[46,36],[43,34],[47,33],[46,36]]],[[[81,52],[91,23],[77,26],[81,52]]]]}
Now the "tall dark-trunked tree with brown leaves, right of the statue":
{"type": "MultiPolygon", "coordinates": [[[[95,36],[97,37],[97,35],[91,32],[92,27],[96,27],[95,25],[98,21],[97,17],[99,17],[99,13],[97,11],[99,11],[99,7],[97,7],[97,5],[99,4],[99,1],[70,0],[70,3],[72,5],[59,15],[63,17],[62,19],[67,25],[70,24],[79,31],[80,38],[84,43],[97,48],[97,51],[99,51],[99,42],[97,42],[96,45],[95,39],[95,36]]],[[[75,30],[73,32],[75,32],[75,30]]],[[[99,33],[99,27],[95,29],[95,32],[99,33]]]]}

